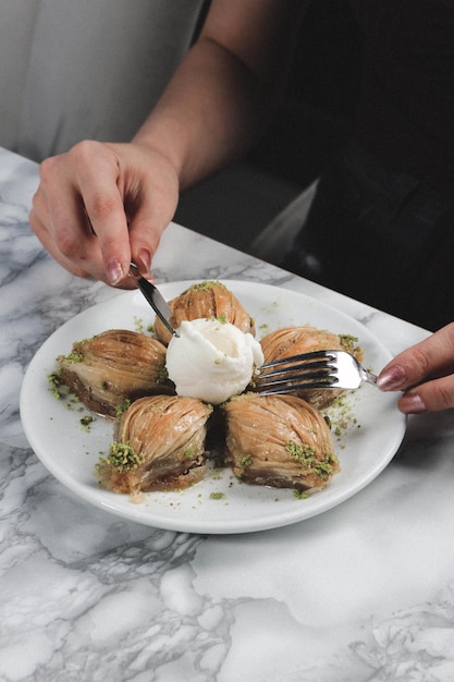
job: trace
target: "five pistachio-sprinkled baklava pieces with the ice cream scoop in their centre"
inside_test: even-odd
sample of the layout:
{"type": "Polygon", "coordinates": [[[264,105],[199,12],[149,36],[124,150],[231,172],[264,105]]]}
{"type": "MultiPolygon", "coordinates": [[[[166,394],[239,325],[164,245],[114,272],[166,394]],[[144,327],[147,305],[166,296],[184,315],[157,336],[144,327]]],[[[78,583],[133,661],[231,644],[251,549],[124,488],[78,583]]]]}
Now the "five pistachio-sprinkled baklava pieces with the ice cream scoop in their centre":
{"type": "Polygon", "coordinates": [[[259,342],[250,315],[220,282],[193,284],[169,305],[177,337],[157,319],[157,338],[113,329],[58,358],[59,380],[90,410],[115,417],[96,467],[100,485],[123,494],[187,487],[205,477],[221,437],[242,482],[299,492],[327,486],[340,465],[320,410],[342,391],[261,395],[256,375],[266,373],[263,362],[315,350],[361,361],[356,339],[306,325],[259,342]]]}

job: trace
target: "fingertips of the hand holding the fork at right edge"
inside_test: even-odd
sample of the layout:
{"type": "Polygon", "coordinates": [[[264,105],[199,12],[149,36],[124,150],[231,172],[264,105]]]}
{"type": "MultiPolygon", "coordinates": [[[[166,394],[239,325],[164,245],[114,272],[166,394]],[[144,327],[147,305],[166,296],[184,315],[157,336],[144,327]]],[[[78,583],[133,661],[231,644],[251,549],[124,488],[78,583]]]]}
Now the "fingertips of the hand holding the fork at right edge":
{"type": "Polygon", "coordinates": [[[406,414],[454,407],[454,322],[394,357],[377,385],[404,391],[397,406],[406,414]]]}

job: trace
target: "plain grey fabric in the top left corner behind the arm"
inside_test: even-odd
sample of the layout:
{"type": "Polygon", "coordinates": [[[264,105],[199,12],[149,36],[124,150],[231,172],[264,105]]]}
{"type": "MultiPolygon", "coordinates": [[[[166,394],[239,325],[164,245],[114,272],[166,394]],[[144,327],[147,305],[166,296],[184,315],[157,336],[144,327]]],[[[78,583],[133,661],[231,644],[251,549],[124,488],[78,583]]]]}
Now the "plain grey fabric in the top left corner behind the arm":
{"type": "Polygon", "coordinates": [[[203,0],[0,0],[0,146],[37,161],[127,141],[187,50],[203,0]]]}

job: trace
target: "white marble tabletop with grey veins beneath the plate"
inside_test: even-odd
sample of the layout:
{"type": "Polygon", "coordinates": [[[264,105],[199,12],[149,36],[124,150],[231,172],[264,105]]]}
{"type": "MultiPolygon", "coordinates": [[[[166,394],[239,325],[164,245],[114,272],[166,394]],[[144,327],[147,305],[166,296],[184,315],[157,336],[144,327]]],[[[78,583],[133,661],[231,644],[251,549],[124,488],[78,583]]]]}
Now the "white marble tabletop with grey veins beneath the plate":
{"type": "MultiPolygon", "coordinates": [[[[0,151],[1,682],[451,682],[453,412],[410,418],[392,463],[351,500],[269,532],[137,525],[48,474],[21,426],[24,370],[64,320],[116,292],[44,253],[27,222],[36,184],[35,165],[0,151]]],[[[308,293],[393,353],[426,336],[177,226],[155,273],[308,293]]]]}

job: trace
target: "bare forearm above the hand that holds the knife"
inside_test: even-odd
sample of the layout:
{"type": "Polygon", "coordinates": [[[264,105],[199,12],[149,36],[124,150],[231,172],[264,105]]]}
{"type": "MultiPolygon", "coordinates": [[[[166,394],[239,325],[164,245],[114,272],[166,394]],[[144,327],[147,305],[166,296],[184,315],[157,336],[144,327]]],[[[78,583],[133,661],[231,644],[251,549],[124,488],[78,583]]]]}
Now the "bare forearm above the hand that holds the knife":
{"type": "Polygon", "coordinates": [[[201,38],[134,142],[168,157],[184,188],[242,155],[273,113],[269,88],[223,46],[201,38]]]}

